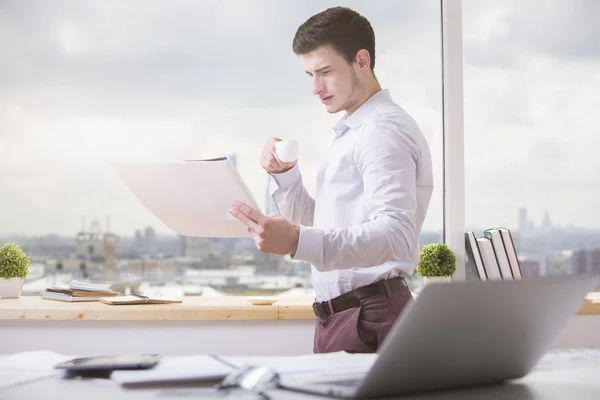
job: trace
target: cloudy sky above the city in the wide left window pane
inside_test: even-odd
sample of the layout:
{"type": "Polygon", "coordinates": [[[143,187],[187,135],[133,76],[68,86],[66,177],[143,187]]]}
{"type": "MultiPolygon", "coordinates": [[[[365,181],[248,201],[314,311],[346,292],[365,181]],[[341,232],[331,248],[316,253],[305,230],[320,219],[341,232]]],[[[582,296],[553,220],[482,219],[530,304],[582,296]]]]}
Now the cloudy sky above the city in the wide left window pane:
{"type": "MultiPolygon", "coordinates": [[[[378,76],[431,140],[439,181],[439,7],[344,4],[371,20],[378,76]]],[[[302,22],[332,5],[2,2],[0,206],[11,212],[0,213],[0,230],[72,234],[82,217],[108,215],[118,233],[145,225],[170,232],[110,169],[110,161],[124,158],[235,153],[263,204],[267,176],[258,155],[270,136],[300,140],[302,173],[314,193],[341,114],[328,115],[315,101],[291,44],[302,22]]],[[[441,183],[437,189],[426,223],[435,229],[441,183]]]]}

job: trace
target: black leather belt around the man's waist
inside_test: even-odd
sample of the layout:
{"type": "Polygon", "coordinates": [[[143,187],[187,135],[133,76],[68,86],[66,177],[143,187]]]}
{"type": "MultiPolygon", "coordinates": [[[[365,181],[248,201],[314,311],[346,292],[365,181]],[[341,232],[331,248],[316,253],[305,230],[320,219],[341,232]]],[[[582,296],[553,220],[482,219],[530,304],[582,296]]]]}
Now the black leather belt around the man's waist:
{"type": "Polygon", "coordinates": [[[344,293],[338,297],[331,299],[331,301],[323,301],[321,303],[315,302],[313,303],[313,311],[315,312],[315,315],[317,317],[327,318],[330,315],[335,314],[336,312],[358,307],[360,306],[361,299],[385,293],[384,282],[387,282],[388,288],[390,290],[396,290],[408,285],[406,279],[402,277],[380,280],[371,283],[370,285],[362,286],[351,290],[348,293],[344,293]],[[329,303],[331,303],[331,308],[333,308],[333,312],[329,306],[329,303]]]}

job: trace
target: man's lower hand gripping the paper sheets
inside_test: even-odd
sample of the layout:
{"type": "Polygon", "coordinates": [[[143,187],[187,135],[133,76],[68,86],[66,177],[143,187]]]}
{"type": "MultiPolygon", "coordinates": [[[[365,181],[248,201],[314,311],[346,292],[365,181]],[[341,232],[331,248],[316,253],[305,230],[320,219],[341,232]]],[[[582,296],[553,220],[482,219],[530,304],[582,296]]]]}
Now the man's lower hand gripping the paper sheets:
{"type": "Polygon", "coordinates": [[[264,253],[294,254],[300,227],[280,214],[264,215],[241,202],[233,202],[231,215],[248,227],[256,248],[264,253]]]}

